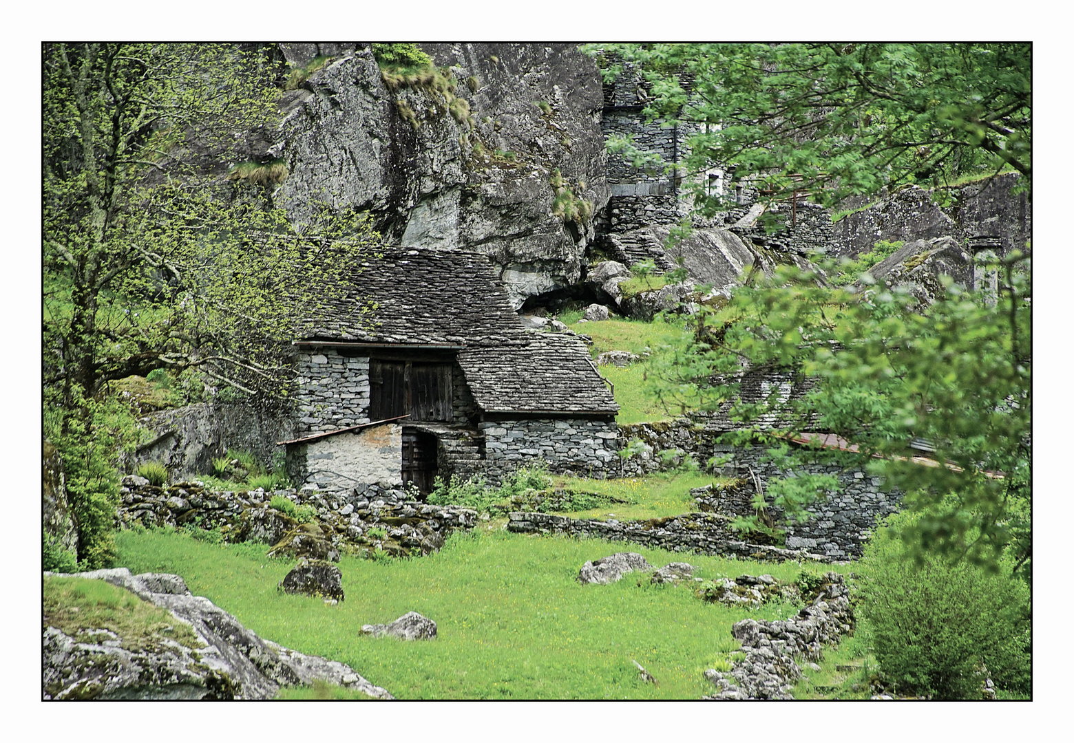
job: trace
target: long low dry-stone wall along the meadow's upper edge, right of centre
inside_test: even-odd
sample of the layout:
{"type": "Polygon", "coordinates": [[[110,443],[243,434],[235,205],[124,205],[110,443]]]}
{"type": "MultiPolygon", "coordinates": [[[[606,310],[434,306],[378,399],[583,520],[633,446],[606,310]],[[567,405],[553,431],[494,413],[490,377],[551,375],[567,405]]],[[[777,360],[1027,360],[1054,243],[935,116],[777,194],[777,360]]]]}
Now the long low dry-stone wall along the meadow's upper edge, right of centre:
{"type": "Polygon", "coordinates": [[[661,548],[669,552],[702,555],[739,555],[751,559],[826,559],[804,550],[753,544],[730,527],[731,516],[721,513],[684,513],[667,519],[619,522],[614,519],[570,519],[551,513],[508,514],[507,530],[521,534],[562,534],[661,548]]]}

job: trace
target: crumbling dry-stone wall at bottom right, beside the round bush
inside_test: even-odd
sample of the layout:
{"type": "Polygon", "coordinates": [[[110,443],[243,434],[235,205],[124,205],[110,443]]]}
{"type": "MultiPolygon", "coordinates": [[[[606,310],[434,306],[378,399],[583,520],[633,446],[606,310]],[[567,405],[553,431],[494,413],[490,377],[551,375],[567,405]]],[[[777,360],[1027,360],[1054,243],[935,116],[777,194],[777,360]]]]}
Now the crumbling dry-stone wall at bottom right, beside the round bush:
{"type": "Polygon", "coordinates": [[[790,688],[801,676],[795,657],[819,660],[824,645],[837,643],[853,626],[850,589],[842,576],[828,572],[819,595],[797,616],[735,623],[731,636],[742,643],[744,657],[730,671],[705,672],[719,689],[705,699],[793,699],[790,688]]]}

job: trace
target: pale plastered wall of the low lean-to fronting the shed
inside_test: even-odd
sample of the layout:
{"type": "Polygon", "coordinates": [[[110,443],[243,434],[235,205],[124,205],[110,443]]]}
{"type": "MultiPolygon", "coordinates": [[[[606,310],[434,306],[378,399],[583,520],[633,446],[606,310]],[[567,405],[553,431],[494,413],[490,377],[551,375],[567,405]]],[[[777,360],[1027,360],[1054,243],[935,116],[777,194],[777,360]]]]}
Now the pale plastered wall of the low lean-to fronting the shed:
{"type": "Polygon", "coordinates": [[[383,423],[288,446],[287,475],[300,490],[400,489],[402,451],[403,426],[383,423]]]}

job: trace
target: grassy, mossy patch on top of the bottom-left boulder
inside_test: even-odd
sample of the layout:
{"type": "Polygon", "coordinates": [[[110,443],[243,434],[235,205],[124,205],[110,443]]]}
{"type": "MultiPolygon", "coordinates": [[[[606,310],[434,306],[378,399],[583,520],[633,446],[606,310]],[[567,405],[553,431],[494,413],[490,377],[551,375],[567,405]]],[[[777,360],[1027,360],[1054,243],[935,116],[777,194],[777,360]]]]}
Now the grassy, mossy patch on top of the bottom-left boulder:
{"type": "Polygon", "coordinates": [[[122,646],[140,650],[174,640],[187,647],[202,647],[186,624],[165,610],[104,581],[47,577],[44,582],[45,626],[56,627],[76,640],[87,630],[108,629],[122,646]]]}

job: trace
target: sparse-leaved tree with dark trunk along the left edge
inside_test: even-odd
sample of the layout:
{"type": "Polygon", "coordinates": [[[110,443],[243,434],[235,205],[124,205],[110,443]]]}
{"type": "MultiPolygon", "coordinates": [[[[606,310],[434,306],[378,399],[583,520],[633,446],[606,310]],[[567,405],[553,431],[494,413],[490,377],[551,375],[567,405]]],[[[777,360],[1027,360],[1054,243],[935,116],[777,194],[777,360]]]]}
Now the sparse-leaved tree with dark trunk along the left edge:
{"type": "Polygon", "coordinates": [[[79,557],[101,564],[117,494],[110,462],[130,427],[110,382],[197,369],[261,403],[286,398],[302,314],[333,298],[325,285],[355,289],[352,269],[376,235],[362,215],[325,213],[300,236],[273,207],[287,171],[258,144],[279,92],[264,54],[91,43],[43,53],[46,433],[68,466],[79,557]]]}

